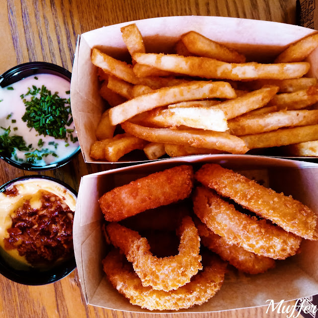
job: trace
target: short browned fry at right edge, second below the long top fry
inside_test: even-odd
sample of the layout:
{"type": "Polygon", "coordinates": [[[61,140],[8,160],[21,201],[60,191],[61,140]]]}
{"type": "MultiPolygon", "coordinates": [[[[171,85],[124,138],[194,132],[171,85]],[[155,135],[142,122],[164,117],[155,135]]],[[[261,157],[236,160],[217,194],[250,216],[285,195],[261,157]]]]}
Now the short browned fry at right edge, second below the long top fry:
{"type": "Polygon", "coordinates": [[[281,109],[295,110],[308,107],[317,102],[318,85],[310,86],[307,89],[298,90],[293,93],[275,95],[270,101],[270,105],[276,105],[281,109]]]}

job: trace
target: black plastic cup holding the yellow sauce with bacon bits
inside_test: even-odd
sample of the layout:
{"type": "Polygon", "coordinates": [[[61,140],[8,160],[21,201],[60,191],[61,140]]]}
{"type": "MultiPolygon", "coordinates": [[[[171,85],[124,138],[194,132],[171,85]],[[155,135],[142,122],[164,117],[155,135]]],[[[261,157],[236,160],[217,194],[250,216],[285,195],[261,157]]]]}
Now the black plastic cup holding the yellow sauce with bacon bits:
{"type": "MultiPolygon", "coordinates": [[[[9,182],[6,182],[0,187],[0,192],[3,192],[9,185],[13,184],[16,181],[26,180],[30,178],[37,178],[37,179],[48,179],[54,182],[57,182],[70,190],[76,197],[77,192],[72,189],[68,184],[49,177],[45,175],[29,175],[23,176],[16,179],[13,179],[9,182]]],[[[1,247],[0,247],[1,248],[1,247]]],[[[18,270],[12,268],[5,260],[4,257],[0,254],[0,274],[5,276],[6,278],[24,285],[46,285],[50,283],[54,283],[61,278],[70,274],[76,268],[75,256],[73,255],[71,258],[68,258],[61,264],[50,268],[49,270],[37,270],[35,268],[27,269],[27,270],[18,270]]]]}

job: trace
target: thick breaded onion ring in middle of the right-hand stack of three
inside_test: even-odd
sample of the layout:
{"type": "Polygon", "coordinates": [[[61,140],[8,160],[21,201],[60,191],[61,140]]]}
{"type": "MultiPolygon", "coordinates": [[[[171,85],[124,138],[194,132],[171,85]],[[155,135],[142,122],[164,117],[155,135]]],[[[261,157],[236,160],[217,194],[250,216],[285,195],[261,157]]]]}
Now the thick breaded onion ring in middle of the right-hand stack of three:
{"type": "Polygon", "coordinates": [[[209,229],[252,253],[285,259],[299,249],[302,238],[240,213],[207,188],[196,189],[193,205],[194,213],[209,229]]]}

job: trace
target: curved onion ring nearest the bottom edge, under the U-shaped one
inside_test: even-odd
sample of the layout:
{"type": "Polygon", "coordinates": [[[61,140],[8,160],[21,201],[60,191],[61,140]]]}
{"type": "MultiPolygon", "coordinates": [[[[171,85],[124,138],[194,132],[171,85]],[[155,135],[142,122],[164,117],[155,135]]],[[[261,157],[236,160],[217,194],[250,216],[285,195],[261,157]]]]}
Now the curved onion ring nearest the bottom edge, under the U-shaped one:
{"type": "Polygon", "coordinates": [[[129,263],[118,250],[110,252],[103,260],[104,271],[114,288],[130,300],[149,310],[179,310],[207,302],[221,288],[226,263],[218,258],[208,259],[203,271],[193,276],[191,282],[169,292],[144,287],[129,263]]]}

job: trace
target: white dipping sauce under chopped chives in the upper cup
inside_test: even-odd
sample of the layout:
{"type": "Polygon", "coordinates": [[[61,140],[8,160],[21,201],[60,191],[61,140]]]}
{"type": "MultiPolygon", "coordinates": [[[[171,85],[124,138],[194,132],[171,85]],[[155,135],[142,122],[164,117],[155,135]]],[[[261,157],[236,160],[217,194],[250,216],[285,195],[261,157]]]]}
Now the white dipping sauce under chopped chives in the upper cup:
{"type": "MultiPolygon", "coordinates": [[[[74,122],[72,122],[70,126],[65,126],[66,129],[74,130],[73,132],[67,133],[67,141],[66,139],[56,139],[48,135],[39,135],[34,128],[27,127],[27,122],[22,120],[22,116],[26,111],[26,106],[20,96],[22,94],[25,95],[29,91],[29,88],[33,90],[33,85],[39,88],[44,85],[51,91],[52,95],[55,92],[58,92],[59,97],[66,99],[70,98],[70,93],[66,93],[70,91],[70,82],[52,74],[37,74],[21,79],[12,85],[3,88],[0,87],[0,127],[7,129],[10,126],[11,132],[9,136],[22,136],[26,147],[32,145],[32,148],[30,148],[29,151],[19,151],[15,149],[15,153],[11,156],[13,161],[18,163],[26,162],[27,158],[25,157],[25,154],[34,152],[36,149],[40,151],[36,152],[39,155],[41,152],[44,152],[44,150],[47,150],[47,152],[54,152],[55,156],[49,154],[47,157],[43,156],[41,160],[36,160],[35,163],[32,163],[32,165],[44,166],[59,162],[70,156],[78,149],[79,142],[77,141],[74,122]],[[12,87],[13,89],[8,89],[8,87],[12,87]],[[72,139],[75,140],[75,142],[71,140],[70,135],[73,136],[72,139]],[[42,143],[44,142],[42,147],[39,147],[38,145],[40,139],[42,139],[42,143]],[[49,145],[49,143],[51,144],[49,145]]],[[[27,95],[24,99],[30,101],[31,96],[32,95],[27,95]]],[[[40,93],[35,96],[40,97],[40,93]]],[[[69,120],[70,118],[71,114],[69,115],[69,120]]],[[[0,129],[0,135],[3,135],[3,133],[4,130],[0,129]]]]}

